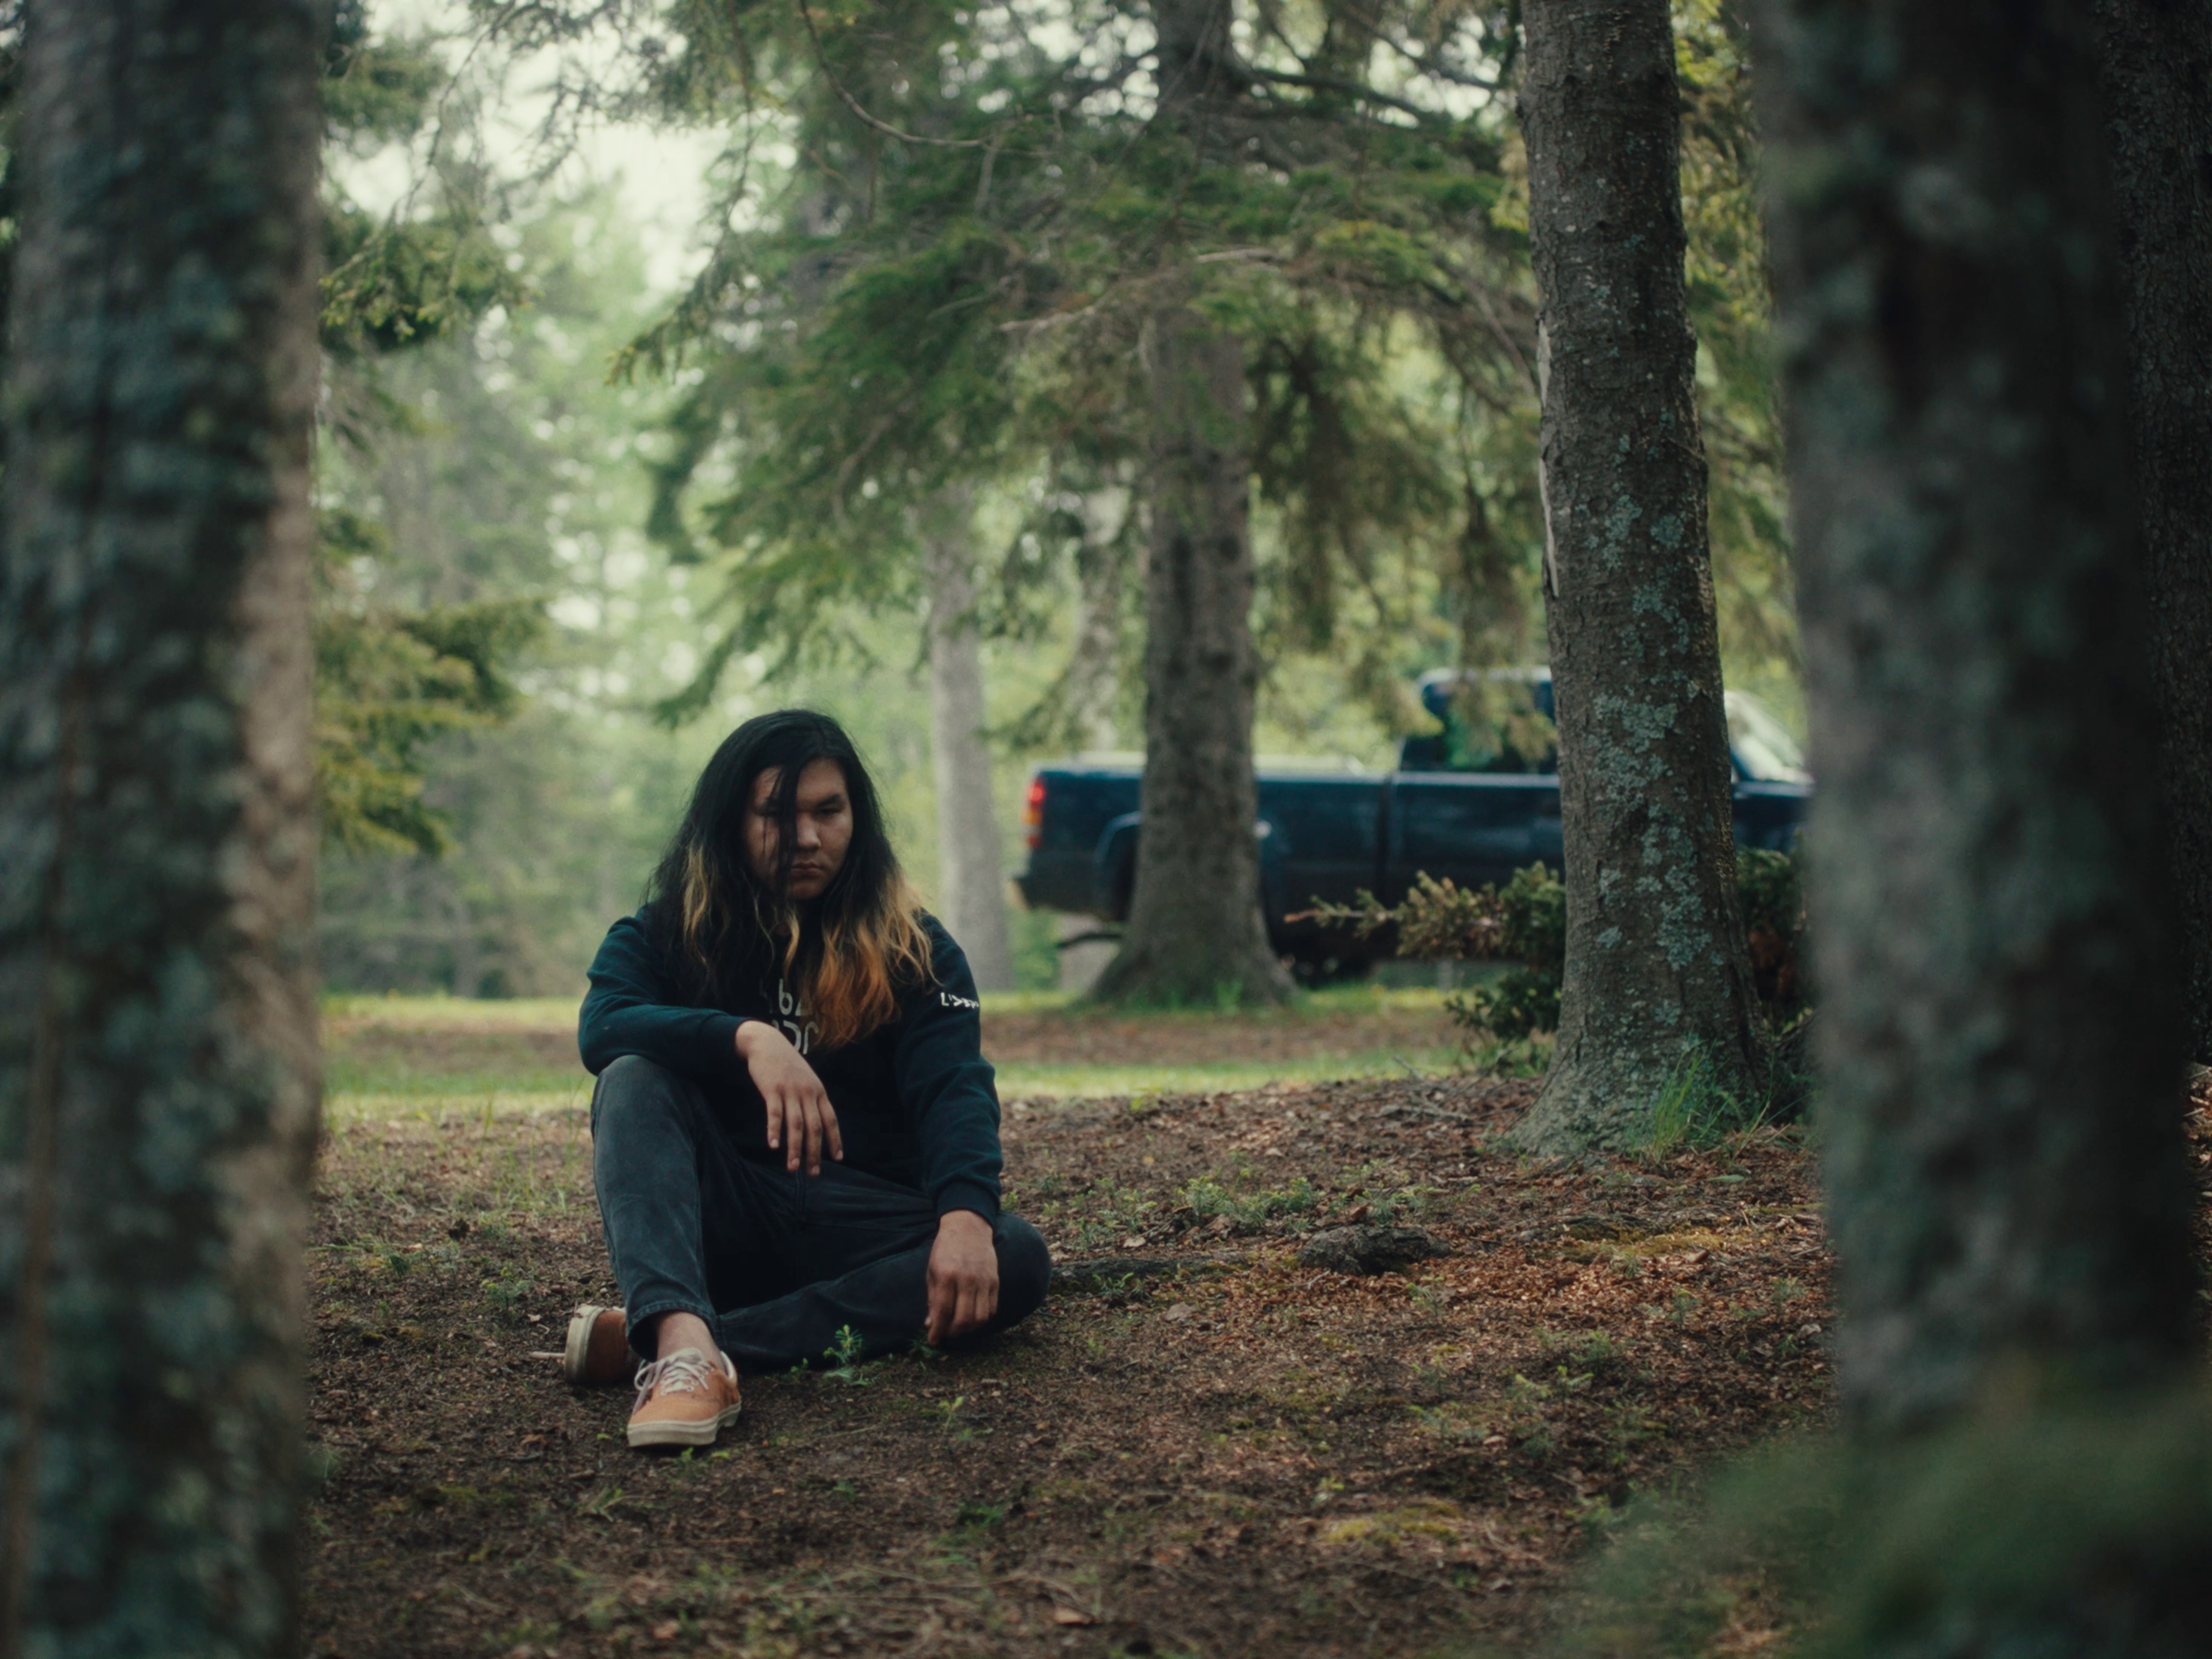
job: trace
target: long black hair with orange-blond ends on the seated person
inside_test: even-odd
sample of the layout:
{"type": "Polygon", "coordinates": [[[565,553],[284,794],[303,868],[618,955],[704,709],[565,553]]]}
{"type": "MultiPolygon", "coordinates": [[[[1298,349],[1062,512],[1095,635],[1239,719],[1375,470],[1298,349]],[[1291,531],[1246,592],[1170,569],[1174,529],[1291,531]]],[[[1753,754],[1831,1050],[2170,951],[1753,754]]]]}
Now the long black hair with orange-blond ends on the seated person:
{"type": "Polygon", "coordinates": [[[690,991],[719,1000],[732,956],[776,962],[796,987],[821,1042],[856,1042],[898,1013],[898,993],[929,978],[922,907],[883,830],[876,783],[845,728],[812,708],[754,714],[730,732],[699,774],[684,821],[646,889],[653,933],[690,991]],[[836,761],[852,803],[852,845],[821,898],[790,900],[799,847],[799,774],[836,761]],[[781,825],[772,880],[752,874],[745,812],[763,772],[781,825]]]}

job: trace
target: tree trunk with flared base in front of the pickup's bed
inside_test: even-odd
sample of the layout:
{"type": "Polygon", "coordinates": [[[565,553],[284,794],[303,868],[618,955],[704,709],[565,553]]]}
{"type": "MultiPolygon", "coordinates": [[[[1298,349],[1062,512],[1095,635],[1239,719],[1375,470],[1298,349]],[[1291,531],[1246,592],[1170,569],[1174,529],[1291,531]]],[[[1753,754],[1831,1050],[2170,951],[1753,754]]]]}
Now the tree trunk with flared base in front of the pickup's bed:
{"type": "Polygon", "coordinates": [[[1252,770],[1250,422],[1243,347],[1194,310],[1146,343],[1152,513],[1146,551],[1144,830],[1137,889],[1102,998],[1279,1002],[1290,975],[1259,911],[1252,770]]]}

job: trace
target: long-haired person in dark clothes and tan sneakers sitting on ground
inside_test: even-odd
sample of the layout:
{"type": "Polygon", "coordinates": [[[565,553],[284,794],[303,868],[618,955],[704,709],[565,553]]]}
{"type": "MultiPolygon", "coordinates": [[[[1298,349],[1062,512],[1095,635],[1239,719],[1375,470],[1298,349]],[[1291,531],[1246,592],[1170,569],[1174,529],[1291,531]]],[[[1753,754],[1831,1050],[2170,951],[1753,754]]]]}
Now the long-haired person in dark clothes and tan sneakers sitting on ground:
{"type": "Polygon", "coordinates": [[[980,1013],[845,730],[781,710],[723,739],[577,1031],[624,1307],[577,1310],[564,1371],[635,1371],[633,1447],[712,1444],[739,1369],[942,1347],[1044,1301],[1044,1239],[998,1203],[980,1013]]]}

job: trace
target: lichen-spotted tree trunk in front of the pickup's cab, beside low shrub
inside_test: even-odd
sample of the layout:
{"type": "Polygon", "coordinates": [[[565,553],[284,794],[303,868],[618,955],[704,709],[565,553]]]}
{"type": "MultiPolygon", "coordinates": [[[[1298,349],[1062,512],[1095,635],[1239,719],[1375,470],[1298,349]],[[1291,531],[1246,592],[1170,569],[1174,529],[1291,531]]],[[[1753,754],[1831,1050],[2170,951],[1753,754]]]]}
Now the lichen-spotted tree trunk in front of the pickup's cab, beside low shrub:
{"type": "Polygon", "coordinates": [[[1663,1093],[1756,1110],[1705,551],[1666,0],[1528,0],[1522,133],[1544,316],[1544,597],[1566,836],[1544,1152],[1650,1135],[1663,1093]]]}

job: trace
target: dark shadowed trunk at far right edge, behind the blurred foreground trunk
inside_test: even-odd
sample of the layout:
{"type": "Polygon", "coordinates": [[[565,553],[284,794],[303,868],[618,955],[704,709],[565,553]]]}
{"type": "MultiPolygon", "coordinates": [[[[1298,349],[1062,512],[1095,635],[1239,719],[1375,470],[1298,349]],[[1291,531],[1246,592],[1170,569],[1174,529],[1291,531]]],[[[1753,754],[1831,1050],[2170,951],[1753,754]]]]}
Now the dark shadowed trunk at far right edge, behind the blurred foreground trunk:
{"type": "Polygon", "coordinates": [[[2099,0],[2181,1029],[2212,1062],[2212,13],[2099,0]]]}

